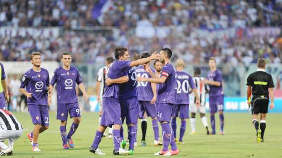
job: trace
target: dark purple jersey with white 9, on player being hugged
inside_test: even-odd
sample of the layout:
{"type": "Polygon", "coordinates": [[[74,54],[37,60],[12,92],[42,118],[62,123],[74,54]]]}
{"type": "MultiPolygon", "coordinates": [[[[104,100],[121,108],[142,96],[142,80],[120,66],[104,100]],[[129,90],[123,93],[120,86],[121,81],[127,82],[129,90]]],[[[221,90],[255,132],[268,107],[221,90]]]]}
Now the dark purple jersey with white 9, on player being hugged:
{"type": "Polygon", "coordinates": [[[119,98],[138,97],[135,67],[125,69],[123,76],[128,76],[129,79],[128,82],[120,85],[119,98]]]}

